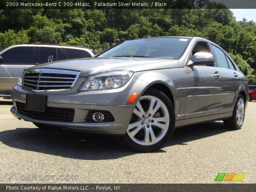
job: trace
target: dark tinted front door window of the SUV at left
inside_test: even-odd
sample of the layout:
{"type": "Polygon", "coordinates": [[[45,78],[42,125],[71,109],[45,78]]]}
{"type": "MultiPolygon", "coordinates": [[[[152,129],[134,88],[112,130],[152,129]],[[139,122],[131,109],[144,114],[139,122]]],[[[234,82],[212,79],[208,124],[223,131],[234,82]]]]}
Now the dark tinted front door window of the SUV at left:
{"type": "Polygon", "coordinates": [[[2,55],[4,63],[13,63],[13,64],[34,64],[34,47],[14,47],[2,55]]]}

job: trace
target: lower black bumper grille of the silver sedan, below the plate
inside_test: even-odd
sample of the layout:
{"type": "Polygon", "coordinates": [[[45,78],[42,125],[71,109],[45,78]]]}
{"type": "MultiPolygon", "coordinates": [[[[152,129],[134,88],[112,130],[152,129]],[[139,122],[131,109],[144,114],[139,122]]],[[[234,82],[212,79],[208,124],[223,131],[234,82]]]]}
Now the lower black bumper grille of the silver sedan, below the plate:
{"type": "Polygon", "coordinates": [[[36,120],[72,122],[75,110],[71,108],[46,107],[45,112],[36,112],[26,109],[26,104],[16,101],[17,110],[20,114],[36,120]]]}

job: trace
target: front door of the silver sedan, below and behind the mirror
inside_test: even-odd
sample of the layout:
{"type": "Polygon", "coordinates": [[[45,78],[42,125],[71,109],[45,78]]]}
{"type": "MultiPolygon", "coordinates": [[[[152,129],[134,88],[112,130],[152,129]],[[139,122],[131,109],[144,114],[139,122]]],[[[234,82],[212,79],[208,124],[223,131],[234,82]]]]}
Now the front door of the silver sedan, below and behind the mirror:
{"type": "MultiPolygon", "coordinates": [[[[211,53],[207,42],[198,42],[190,58],[196,52],[211,53]]],[[[186,104],[184,118],[196,118],[218,113],[221,99],[221,76],[215,63],[184,67],[186,73],[186,104]]]]}

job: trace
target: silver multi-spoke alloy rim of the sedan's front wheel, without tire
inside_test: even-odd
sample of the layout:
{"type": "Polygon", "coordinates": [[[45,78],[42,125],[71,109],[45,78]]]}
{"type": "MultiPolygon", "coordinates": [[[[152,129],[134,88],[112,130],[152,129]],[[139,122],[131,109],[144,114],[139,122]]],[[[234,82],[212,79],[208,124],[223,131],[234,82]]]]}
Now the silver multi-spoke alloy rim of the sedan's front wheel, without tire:
{"type": "Polygon", "coordinates": [[[170,123],[168,108],[159,98],[145,95],[134,108],[128,136],[144,146],[156,144],[166,135],[170,123]]]}

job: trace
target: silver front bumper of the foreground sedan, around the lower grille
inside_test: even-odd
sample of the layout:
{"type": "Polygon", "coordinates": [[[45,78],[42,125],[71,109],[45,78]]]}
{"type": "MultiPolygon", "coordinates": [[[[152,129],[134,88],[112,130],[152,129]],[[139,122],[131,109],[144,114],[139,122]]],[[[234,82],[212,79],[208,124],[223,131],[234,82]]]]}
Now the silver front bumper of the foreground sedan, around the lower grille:
{"type": "MultiPolygon", "coordinates": [[[[47,107],[55,108],[72,108],[74,109],[74,119],[72,122],[60,122],[60,121],[50,121],[44,119],[37,119],[28,114],[19,112],[16,107],[11,108],[12,114],[19,119],[26,121],[47,124],[49,126],[61,126],[65,128],[71,128],[76,130],[82,130],[84,132],[91,132],[95,134],[118,134],[122,135],[126,133],[128,128],[132,112],[134,110],[135,104],[120,104],[116,105],[109,100],[109,98],[122,98],[122,100],[127,100],[126,97],[129,96],[126,89],[116,89],[108,93],[106,101],[104,101],[104,93],[100,91],[96,92],[96,95],[88,95],[86,92],[68,93],[68,94],[46,94],[48,96],[47,107]],[[96,100],[98,100],[99,95],[101,95],[101,103],[108,105],[96,105],[96,100]],[[112,96],[111,96],[112,95],[112,96]],[[58,98],[57,98],[58,97],[58,98]],[[70,99],[69,99],[70,98],[70,99]],[[90,101],[90,103],[89,103],[90,101]],[[113,122],[86,122],[86,116],[90,110],[102,110],[108,111],[114,117],[113,122]]],[[[12,91],[12,100],[14,102],[26,103],[26,94],[31,94],[29,90],[24,90],[20,86],[14,86],[12,91]]],[[[35,93],[34,93],[35,94],[35,93]]],[[[36,93],[38,94],[38,93],[36,93]]]]}

